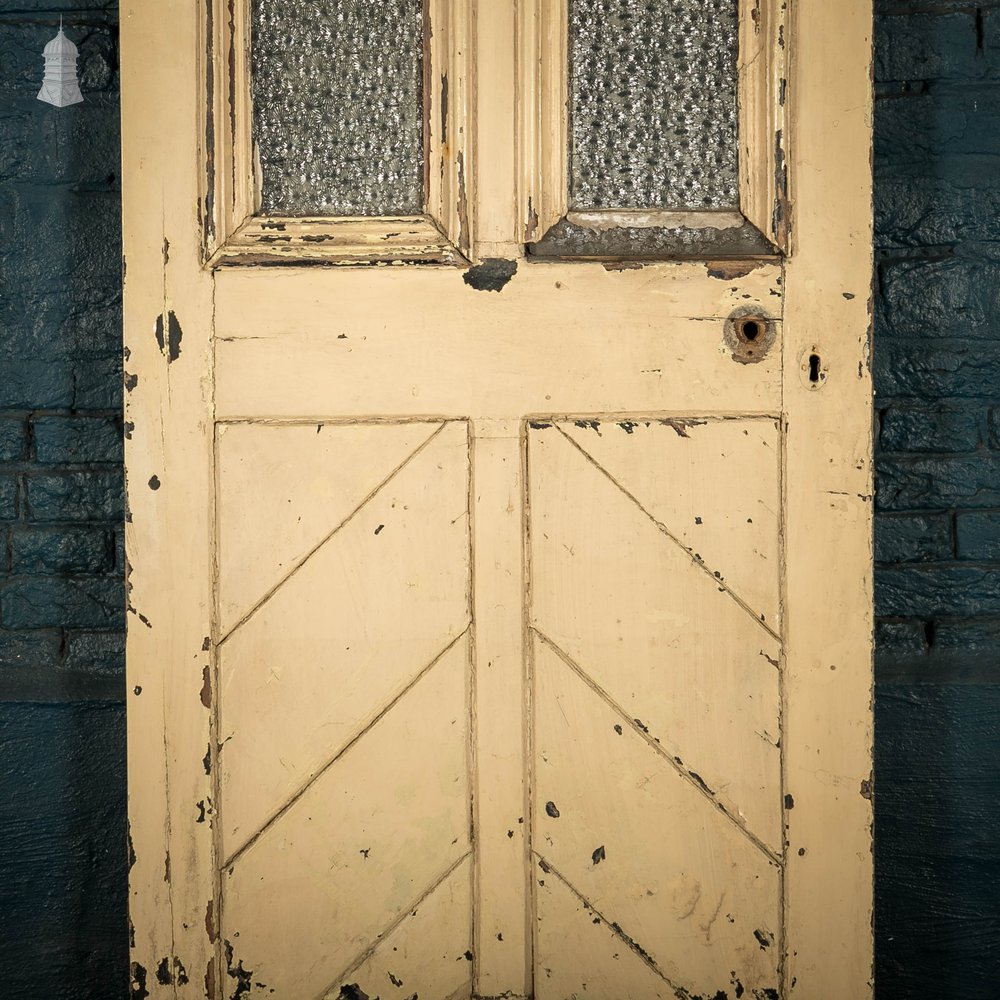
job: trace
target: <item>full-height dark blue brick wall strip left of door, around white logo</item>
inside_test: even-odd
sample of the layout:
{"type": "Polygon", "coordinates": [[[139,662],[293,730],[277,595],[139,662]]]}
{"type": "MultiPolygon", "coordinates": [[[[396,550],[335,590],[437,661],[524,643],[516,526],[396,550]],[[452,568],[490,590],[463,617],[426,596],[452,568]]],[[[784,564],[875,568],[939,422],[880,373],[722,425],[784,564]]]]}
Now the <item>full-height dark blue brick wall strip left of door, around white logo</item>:
{"type": "Polygon", "coordinates": [[[0,992],[126,995],[116,5],[0,5],[0,992]],[[64,14],[84,104],[35,100],[64,14]]]}

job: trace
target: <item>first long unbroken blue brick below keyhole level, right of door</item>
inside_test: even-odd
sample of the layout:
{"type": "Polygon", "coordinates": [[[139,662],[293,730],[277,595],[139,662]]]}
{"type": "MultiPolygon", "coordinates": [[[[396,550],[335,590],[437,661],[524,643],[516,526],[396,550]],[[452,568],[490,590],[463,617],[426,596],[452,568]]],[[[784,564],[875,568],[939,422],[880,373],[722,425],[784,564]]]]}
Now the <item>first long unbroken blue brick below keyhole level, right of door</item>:
{"type": "Polygon", "coordinates": [[[880,511],[1000,507],[1000,456],[881,455],[875,485],[880,511]]]}

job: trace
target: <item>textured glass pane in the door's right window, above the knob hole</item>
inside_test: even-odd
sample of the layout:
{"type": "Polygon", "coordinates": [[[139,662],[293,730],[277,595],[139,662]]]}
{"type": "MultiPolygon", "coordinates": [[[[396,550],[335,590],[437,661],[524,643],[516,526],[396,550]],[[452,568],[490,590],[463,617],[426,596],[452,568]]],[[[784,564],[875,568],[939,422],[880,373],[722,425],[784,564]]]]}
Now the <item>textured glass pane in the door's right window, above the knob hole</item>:
{"type": "Polygon", "coordinates": [[[738,204],[739,0],[570,0],[574,208],[738,204]]]}

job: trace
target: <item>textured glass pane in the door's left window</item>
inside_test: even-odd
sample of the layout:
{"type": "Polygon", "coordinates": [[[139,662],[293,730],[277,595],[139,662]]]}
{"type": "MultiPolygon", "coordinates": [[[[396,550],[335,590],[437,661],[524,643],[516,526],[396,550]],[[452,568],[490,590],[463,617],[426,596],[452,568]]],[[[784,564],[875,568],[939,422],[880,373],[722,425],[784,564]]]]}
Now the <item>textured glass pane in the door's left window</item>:
{"type": "Polygon", "coordinates": [[[423,0],[253,0],[262,211],[423,210],[423,0]]]}

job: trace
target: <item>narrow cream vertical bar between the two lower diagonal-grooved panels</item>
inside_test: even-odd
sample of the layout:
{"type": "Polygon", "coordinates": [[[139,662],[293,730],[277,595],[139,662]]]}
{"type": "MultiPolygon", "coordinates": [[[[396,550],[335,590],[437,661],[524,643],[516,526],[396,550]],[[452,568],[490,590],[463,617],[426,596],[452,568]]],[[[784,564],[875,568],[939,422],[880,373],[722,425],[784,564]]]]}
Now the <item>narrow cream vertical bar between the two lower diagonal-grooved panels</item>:
{"type": "Polygon", "coordinates": [[[472,422],[476,997],[531,996],[521,422],[472,422]]]}

